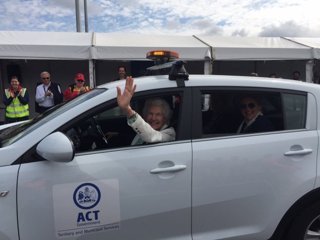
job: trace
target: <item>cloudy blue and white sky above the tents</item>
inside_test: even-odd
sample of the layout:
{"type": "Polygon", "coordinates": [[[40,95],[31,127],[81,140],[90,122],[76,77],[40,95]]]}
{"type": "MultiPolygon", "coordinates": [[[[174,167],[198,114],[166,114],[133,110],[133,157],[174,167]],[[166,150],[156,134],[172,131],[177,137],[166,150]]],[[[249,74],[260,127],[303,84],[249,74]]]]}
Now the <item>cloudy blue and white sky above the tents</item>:
{"type": "MultiPolygon", "coordinates": [[[[77,31],[75,0],[0,0],[0,6],[0,30],[77,31]]],[[[87,0],[87,7],[89,32],[320,37],[319,0],[87,0]]]]}

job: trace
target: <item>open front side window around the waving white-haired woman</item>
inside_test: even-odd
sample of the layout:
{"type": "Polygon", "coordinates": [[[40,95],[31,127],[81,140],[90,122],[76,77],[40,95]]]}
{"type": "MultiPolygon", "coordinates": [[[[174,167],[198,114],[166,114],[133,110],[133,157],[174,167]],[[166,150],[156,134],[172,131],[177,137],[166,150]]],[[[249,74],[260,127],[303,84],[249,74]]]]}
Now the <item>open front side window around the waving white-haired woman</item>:
{"type": "MultiPolygon", "coordinates": [[[[155,115],[163,115],[165,119],[162,122],[163,125],[161,128],[157,130],[159,132],[164,131],[165,134],[169,134],[170,136],[172,135],[173,137],[167,141],[174,141],[180,111],[179,106],[182,100],[180,94],[161,95],[159,97],[139,97],[131,102],[131,107],[146,120],[145,122],[149,126],[147,126],[147,128],[150,129],[150,126],[158,124],[159,118],[157,116],[153,118],[152,116],[147,120],[147,114],[150,115],[152,113],[150,113],[149,106],[146,107],[146,104],[147,102],[150,104],[151,100],[158,101],[159,99],[160,103],[157,102],[153,104],[165,104],[165,110],[162,111],[163,107],[161,106],[160,110],[158,110],[160,112],[157,112],[155,115]]],[[[65,133],[72,139],[76,152],[162,142],[157,140],[153,142],[136,140],[134,142],[137,131],[128,124],[127,116],[116,105],[115,101],[107,107],[102,107],[101,110],[95,112],[94,115],[77,121],[77,123],[70,126],[65,133]]],[[[141,136],[144,135],[141,134],[141,136]]]]}

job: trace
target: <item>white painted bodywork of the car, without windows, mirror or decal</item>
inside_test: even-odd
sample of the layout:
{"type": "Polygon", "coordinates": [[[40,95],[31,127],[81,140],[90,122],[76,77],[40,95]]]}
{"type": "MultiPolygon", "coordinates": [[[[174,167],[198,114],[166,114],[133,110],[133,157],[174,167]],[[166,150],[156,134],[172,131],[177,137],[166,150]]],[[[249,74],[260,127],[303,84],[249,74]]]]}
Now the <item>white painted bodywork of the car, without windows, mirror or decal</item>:
{"type": "MultiPolygon", "coordinates": [[[[167,78],[136,79],[136,92],[177,87],[167,78]]],[[[186,87],[306,92],[305,129],[88,151],[76,153],[69,163],[19,165],[17,159],[30,148],[75,117],[114,99],[115,87],[123,91],[124,83],[99,86],[108,90],[54,118],[48,115],[40,120],[42,126],[0,148],[0,191],[10,191],[0,197],[0,214],[6,216],[0,221],[0,239],[19,239],[18,225],[20,240],[56,239],[53,189],[62,184],[105,179],[119,183],[120,228],[67,239],[267,239],[290,206],[320,187],[320,104],[316,99],[320,86],[282,79],[197,75],[184,83],[186,87]],[[311,149],[312,153],[285,156],[293,146],[311,149]],[[150,173],[171,165],[186,168],[150,173]]],[[[189,119],[182,116],[182,121],[189,119]]],[[[0,126],[0,130],[15,124],[0,126]]],[[[66,218],[74,216],[66,211],[66,218]]]]}

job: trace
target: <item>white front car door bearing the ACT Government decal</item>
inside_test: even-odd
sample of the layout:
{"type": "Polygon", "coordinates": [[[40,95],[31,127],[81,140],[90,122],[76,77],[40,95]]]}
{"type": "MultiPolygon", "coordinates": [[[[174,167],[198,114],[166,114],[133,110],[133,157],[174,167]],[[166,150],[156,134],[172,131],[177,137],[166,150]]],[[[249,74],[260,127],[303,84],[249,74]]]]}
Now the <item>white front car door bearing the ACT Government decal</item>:
{"type": "Polygon", "coordinates": [[[190,122],[180,121],[190,117],[190,90],[179,94],[176,141],[76,151],[69,163],[39,161],[30,149],[18,179],[20,239],[191,239],[190,122]]]}

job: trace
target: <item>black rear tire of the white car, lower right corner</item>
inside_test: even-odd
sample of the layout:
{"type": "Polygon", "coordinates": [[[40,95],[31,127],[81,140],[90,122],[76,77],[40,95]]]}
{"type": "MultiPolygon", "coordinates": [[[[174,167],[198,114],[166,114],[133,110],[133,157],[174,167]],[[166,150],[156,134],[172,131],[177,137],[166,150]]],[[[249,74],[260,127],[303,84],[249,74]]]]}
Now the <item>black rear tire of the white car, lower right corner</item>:
{"type": "Polygon", "coordinates": [[[286,240],[320,239],[320,201],[304,208],[291,222],[286,240]]]}

